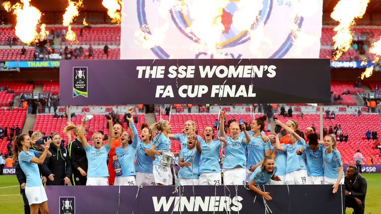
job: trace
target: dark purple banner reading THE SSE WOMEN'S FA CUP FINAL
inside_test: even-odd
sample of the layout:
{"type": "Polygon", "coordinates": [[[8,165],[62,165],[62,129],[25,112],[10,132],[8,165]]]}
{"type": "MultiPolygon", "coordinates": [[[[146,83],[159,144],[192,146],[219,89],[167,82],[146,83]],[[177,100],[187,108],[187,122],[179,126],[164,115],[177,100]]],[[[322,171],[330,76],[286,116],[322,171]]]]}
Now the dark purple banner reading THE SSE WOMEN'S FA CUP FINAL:
{"type": "Polygon", "coordinates": [[[62,105],[329,103],[329,59],[65,60],[62,105]]]}

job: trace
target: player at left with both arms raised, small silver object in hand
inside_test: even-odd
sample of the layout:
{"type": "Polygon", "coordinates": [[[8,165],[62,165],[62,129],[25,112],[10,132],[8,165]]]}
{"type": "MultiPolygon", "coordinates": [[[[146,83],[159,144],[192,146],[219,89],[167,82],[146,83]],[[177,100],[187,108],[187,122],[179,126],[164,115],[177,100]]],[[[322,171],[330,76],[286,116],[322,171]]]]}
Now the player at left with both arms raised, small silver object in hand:
{"type": "MultiPolygon", "coordinates": [[[[81,142],[83,148],[86,152],[86,157],[88,160],[88,169],[87,169],[87,182],[86,186],[108,186],[109,181],[109,171],[107,168],[107,155],[109,154],[111,145],[113,143],[114,131],[113,129],[109,129],[109,139],[107,140],[107,144],[102,146],[103,144],[103,135],[99,132],[94,133],[92,138],[93,146],[90,146],[87,143],[87,140],[84,135],[84,129],[86,125],[86,121],[89,115],[85,115],[82,118],[82,125],[79,127],[79,141],[81,142]]],[[[107,119],[109,123],[109,127],[112,126],[112,119],[107,119]]]]}

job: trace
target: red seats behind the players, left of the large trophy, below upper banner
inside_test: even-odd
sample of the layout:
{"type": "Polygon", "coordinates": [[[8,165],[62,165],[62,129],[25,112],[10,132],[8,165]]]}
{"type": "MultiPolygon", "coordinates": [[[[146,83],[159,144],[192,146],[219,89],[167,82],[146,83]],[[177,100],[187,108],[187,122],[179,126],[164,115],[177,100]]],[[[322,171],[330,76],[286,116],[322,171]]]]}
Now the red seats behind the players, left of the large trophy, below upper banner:
{"type": "MultiPolygon", "coordinates": [[[[104,131],[104,134],[108,135],[107,132],[107,120],[104,114],[93,114],[94,117],[87,122],[86,124],[86,138],[89,139],[89,135],[92,135],[99,130],[104,131]]],[[[77,115],[76,117],[71,118],[71,121],[78,125],[81,124],[81,118],[83,115],[77,115]]],[[[121,113],[121,117],[123,119],[123,114],[121,113]]],[[[140,124],[144,123],[144,114],[138,114],[138,123],[136,124],[136,128],[138,129],[138,133],[140,134],[140,124]]],[[[53,114],[37,114],[36,122],[34,124],[33,130],[39,130],[40,132],[45,132],[47,135],[50,135],[51,132],[58,132],[61,136],[61,139],[65,140],[65,146],[67,144],[67,136],[64,134],[64,127],[67,123],[67,118],[56,118],[53,114]]],[[[123,122],[123,128],[126,130],[126,123],[123,122]]],[[[128,129],[129,130],[129,129],[128,129]]],[[[74,139],[71,136],[71,139],[74,139]]]]}

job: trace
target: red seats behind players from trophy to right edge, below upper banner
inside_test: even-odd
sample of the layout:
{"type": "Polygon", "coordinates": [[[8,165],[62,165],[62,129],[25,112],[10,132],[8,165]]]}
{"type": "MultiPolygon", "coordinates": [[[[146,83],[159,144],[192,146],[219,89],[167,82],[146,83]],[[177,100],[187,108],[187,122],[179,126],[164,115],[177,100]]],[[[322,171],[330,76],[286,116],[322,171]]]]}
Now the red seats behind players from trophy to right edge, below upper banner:
{"type": "MultiPolygon", "coordinates": [[[[261,114],[255,114],[255,117],[258,117],[261,114]]],[[[299,129],[304,131],[307,127],[310,127],[311,124],[315,124],[316,131],[319,133],[318,121],[319,114],[304,114],[303,117],[300,117],[299,114],[294,115],[293,117],[283,117],[277,115],[279,120],[286,122],[289,119],[295,119],[299,122],[299,129]]],[[[237,121],[242,118],[245,122],[250,122],[250,114],[227,114],[226,121],[231,118],[235,118],[237,121]]],[[[217,114],[212,113],[174,113],[171,115],[171,127],[172,133],[182,133],[184,128],[184,123],[187,120],[193,120],[196,123],[196,128],[198,134],[202,135],[202,131],[205,126],[214,125],[215,119],[218,118],[217,114]]],[[[169,119],[169,116],[162,115],[162,119],[169,119]]],[[[160,120],[160,115],[156,115],[156,120],[160,120]]],[[[372,155],[374,157],[374,162],[381,162],[380,151],[377,150],[374,146],[373,141],[368,141],[365,137],[365,132],[368,129],[376,130],[380,133],[380,124],[381,117],[378,114],[363,114],[361,116],[354,116],[352,114],[336,114],[336,119],[326,119],[325,115],[323,117],[324,127],[328,128],[329,125],[334,126],[335,124],[341,125],[342,132],[348,133],[348,142],[338,142],[337,148],[339,149],[342,160],[345,163],[354,163],[353,155],[357,150],[361,150],[361,153],[364,155],[364,162],[367,162],[369,157],[372,155]]],[[[267,127],[267,122],[266,122],[267,127]]],[[[264,130],[266,131],[266,129],[264,130]]],[[[217,131],[215,131],[215,136],[217,136],[217,131]]],[[[179,141],[171,140],[172,151],[180,151],[179,141]]]]}

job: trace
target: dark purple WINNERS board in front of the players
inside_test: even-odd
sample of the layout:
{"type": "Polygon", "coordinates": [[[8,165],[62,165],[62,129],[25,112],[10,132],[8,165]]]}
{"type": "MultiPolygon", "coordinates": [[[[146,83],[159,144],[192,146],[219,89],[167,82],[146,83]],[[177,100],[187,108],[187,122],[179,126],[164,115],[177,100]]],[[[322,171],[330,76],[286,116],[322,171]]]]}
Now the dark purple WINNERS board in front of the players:
{"type": "Polygon", "coordinates": [[[341,214],[345,210],[344,185],[336,194],[332,185],[260,188],[270,193],[271,201],[244,186],[185,186],[176,193],[174,186],[46,186],[46,194],[54,214],[341,214]]]}

